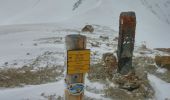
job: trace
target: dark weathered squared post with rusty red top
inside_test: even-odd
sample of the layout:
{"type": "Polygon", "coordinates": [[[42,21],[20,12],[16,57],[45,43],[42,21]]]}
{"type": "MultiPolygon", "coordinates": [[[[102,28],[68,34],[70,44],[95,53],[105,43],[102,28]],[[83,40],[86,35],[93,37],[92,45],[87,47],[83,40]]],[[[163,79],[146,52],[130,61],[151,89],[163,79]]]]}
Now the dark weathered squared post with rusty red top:
{"type": "Polygon", "coordinates": [[[135,42],[135,12],[122,12],[119,19],[118,39],[118,72],[125,75],[132,68],[132,57],[135,42]]]}

